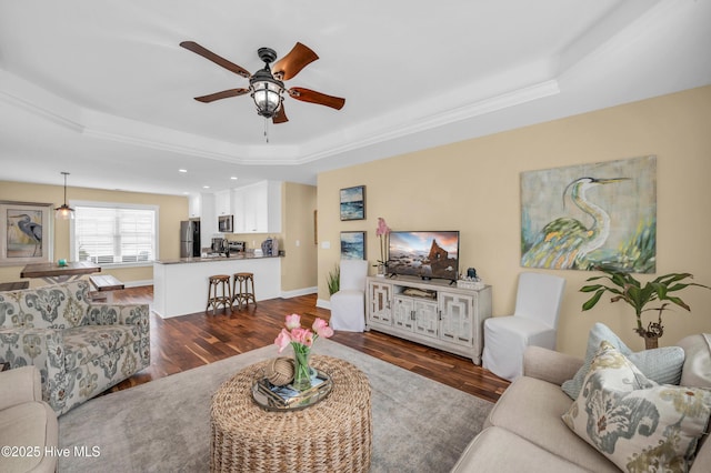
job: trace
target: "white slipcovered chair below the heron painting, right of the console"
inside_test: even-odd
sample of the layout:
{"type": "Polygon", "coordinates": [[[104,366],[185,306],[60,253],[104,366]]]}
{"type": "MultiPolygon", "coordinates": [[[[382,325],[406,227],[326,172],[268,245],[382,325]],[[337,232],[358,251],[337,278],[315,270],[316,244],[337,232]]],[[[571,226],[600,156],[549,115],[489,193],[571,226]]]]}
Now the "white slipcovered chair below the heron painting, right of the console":
{"type": "Polygon", "coordinates": [[[564,289],[563,278],[521,273],[514,314],[484,321],[483,368],[513,381],[523,374],[523,352],[527,346],[555,350],[564,289]]]}

